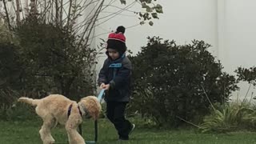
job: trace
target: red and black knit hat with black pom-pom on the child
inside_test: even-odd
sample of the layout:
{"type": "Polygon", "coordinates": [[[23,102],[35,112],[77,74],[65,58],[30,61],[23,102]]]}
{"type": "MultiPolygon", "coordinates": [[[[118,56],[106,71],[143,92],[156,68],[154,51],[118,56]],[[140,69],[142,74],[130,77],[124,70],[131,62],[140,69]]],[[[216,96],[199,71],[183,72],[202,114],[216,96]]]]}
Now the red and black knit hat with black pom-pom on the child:
{"type": "Polygon", "coordinates": [[[124,35],[126,28],[118,26],[115,33],[109,34],[106,49],[117,50],[121,55],[126,52],[126,36],[124,35]]]}

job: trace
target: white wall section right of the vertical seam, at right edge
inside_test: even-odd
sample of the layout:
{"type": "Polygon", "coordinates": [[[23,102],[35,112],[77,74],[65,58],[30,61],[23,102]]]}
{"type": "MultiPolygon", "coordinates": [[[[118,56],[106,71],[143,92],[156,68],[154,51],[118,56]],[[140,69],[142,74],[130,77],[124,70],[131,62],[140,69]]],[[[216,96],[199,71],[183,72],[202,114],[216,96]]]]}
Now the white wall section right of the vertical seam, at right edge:
{"type": "MultiPolygon", "coordinates": [[[[230,74],[238,66],[250,67],[256,65],[256,1],[254,0],[225,0],[222,2],[222,45],[218,47],[221,62],[230,74]]],[[[234,93],[236,98],[244,98],[249,85],[246,82],[239,84],[241,90],[234,93]]],[[[247,96],[256,92],[250,89],[247,96]]]]}

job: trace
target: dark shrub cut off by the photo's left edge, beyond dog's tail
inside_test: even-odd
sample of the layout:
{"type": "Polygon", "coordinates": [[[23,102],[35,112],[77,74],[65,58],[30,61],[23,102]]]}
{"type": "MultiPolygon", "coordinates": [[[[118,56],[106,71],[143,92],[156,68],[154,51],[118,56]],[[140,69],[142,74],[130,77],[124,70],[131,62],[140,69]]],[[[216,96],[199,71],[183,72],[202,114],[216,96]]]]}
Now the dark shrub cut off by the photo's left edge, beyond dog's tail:
{"type": "Polygon", "coordinates": [[[0,42],[0,102],[7,106],[12,105],[22,87],[22,62],[18,49],[10,42],[0,42]]]}

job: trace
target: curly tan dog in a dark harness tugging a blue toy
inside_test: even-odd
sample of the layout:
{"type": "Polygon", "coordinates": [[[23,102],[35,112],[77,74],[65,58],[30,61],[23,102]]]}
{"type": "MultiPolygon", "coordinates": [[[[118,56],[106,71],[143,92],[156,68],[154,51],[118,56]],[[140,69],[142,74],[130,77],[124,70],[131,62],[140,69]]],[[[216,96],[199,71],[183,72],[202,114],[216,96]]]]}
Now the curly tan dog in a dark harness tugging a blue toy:
{"type": "Polygon", "coordinates": [[[78,103],[60,94],[50,94],[42,99],[22,97],[18,98],[18,102],[25,102],[36,106],[35,111],[43,120],[42,128],[39,130],[43,144],[55,142],[50,134],[50,130],[57,123],[65,126],[70,144],[85,144],[85,140],[77,131],[78,125],[82,123],[82,115],[87,115],[86,113],[88,113],[95,120],[102,109],[98,99],[94,96],[82,98],[78,103]],[[68,117],[70,105],[72,105],[72,108],[68,117]]]}

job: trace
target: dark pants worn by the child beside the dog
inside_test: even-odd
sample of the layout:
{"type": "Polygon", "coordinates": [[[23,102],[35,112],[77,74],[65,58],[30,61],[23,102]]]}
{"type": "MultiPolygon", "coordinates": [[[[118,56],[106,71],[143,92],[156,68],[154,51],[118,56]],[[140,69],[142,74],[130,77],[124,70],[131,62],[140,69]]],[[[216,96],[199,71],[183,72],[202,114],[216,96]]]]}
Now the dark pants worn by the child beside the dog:
{"type": "Polygon", "coordinates": [[[127,102],[106,102],[106,116],[118,130],[119,138],[129,139],[131,123],[125,118],[127,102]]]}

